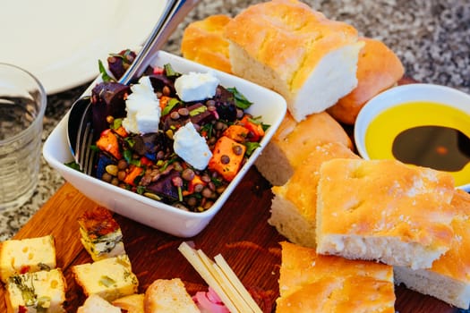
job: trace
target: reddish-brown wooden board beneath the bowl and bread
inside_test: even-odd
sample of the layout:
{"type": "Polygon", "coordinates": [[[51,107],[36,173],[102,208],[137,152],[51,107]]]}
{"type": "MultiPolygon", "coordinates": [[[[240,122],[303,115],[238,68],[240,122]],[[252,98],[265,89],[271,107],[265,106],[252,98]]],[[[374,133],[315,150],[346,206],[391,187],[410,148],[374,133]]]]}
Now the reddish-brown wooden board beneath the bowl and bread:
{"type": "MultiPolygon", "coordinates": [[[[280,266],[278,242],[286,239],[267,223],[271,199],[269,183],[252,168],[218,215],[193,238],[177,238],[115,215],[124,234],[132,271],[140,282],[139,292],[144,292],[155,279],[175,277],[184,281],[191,294],[207,290],[207,284],[177,250],[182,241],[193,241],[209,258],[222,254],[245,287],[262,295],[274,308],[280,266]]],[[[81,246],[77,217],[95,206],[72,185],[65,183],[14,237],[31,238],[49,233],[55,236],[57,266],[64,271],[68,284],[67,312],[75,312],[85,300],[73,280],[71,266],[91,262],[81,246]]],[[[403,286],[396,287],[396,294],[396,310],[400,313],[457,312],[440,300],[403,286]]],[[[3,287],[0,297],[4,299],[3,287]]],[[[0,300],[0,312],[5,311],[4,300],[0,300]]]]}

